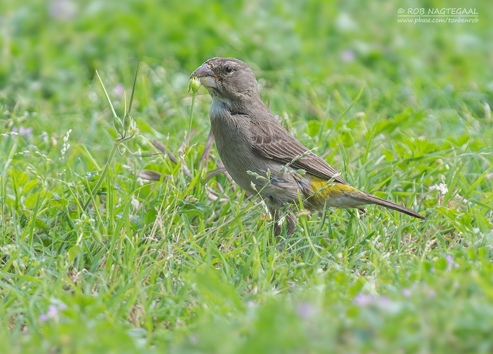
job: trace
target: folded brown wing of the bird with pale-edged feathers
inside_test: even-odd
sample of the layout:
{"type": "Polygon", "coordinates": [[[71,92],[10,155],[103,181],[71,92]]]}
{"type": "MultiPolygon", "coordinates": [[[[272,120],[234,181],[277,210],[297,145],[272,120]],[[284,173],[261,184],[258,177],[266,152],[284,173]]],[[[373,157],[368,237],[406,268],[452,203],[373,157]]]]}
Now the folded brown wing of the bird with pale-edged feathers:
{"type": "MultiPolygon", "coordinates": [[[[251,123],[252,148],[256,153],[287,164],[308,151],[308,148],[285,130],[270,112],[262,115],[255,116],[256,119],[251,123]]],[[[326,180],[338,175],[332,166],[312,152],[297,159],[290,166],[326,180]]],[[[335,177],[334,181],[349,185],[341,176],[335,177]]]]}

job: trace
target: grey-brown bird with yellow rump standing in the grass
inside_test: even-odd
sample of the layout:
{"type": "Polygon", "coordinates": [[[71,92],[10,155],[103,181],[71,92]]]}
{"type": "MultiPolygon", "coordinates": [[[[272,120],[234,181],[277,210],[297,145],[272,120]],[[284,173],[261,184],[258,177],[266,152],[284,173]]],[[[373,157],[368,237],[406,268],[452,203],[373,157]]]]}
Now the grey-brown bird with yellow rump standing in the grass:
{"type": "Polygon", "coordinates": [[[294,205],[300,200],[309,211],[324,207],[364,211],[363,206],[376,204],[425,218],[351,186],[291,135],[263,103],[256,76],[243,61],[211,58],[190,75],[190,79],[197,78],[212,97],[209,117],[219,157],[247,194],[260,195],[275,221],[275,235],[281,234],[283,222],[288,236],[296,231],[294,205]]]}

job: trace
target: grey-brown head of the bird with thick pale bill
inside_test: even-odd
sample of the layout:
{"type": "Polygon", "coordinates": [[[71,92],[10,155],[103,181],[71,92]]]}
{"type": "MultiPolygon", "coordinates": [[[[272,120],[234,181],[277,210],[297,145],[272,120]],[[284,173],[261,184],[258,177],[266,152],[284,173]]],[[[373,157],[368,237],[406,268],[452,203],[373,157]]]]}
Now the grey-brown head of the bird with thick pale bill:
{"type": "Polygon", "coordinates": [[[255,74],[235,58],[211,58],[198,67],[192,77],[199,78],[212,97],[233,101],[258,97],[255,74]]]}

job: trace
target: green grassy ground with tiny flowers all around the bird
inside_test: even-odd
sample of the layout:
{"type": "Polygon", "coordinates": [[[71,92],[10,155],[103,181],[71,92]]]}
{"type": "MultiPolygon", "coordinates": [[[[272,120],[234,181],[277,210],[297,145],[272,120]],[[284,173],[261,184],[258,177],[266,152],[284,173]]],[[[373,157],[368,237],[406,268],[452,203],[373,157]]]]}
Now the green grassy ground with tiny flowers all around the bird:
{"type": "Polygon", "coordinates": [[[400,6],[6,3],[0,351],[490,353],[493,12],[413,25],[400,6]],[[188,76],[216,55],[250,64],[273,113],[352,185],[427,219],[300,213],[274,238],[258,200],[206,178],[214,147],[199,168],[211,98],[192,105],[188,76]],[[95,70],[123,117],[139,57],[139,134],[108,164],[95,70]]]}

